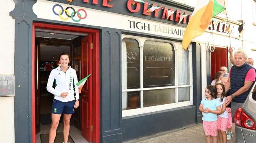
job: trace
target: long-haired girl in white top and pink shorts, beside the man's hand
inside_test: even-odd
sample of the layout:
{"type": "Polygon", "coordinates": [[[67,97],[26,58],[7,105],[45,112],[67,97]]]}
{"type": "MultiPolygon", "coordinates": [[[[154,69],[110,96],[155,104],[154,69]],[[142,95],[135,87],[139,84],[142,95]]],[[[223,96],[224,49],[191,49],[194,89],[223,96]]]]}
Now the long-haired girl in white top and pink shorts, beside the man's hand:
{"type": "Polygon", "coordinates": [[[222,114],[218,115],[218,134],[219,134],[219,142],[220,143],[227,143],[227,134],[226,134],[226,128],[227,128],[227,122],[229,120],[229,114],[226,111],[226,102],[224,101],[225,97],[225,87],[222,83],[217,83],[217,100],[221,104],[222,108],[222,114]]]}

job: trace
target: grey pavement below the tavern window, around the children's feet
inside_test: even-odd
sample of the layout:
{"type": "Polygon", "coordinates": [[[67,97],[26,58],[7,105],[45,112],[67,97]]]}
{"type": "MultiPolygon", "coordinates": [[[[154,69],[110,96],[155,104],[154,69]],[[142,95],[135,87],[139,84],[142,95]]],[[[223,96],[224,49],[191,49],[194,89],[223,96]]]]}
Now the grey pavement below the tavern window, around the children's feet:
{"type": "MultiPolygon", "coordinates": [[[[236,143],[234,124],[232,127],[232,132],[233,139],[228,140],[227,143],[236,143]]],[[[152,136],[129,140],[124,143],[206,143],[206,139],[203,131],[203,125],[195,124],[173,131],[162,132],[152,136]]]]}

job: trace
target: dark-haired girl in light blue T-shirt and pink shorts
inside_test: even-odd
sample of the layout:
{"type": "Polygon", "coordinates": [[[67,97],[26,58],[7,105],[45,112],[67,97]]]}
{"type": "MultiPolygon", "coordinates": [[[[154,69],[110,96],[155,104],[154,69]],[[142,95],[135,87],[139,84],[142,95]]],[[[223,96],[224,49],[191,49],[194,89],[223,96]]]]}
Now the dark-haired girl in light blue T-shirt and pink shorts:
{"type": "Polygon", "coordinates": [[[217,114],[222,113],[221,105],[219,104],[219,101],[215,99],[217,96],[217,89],[213,85],[206,86],[204,94],[206,98],[203,98],[201,101],[199,111],[203,112],[203,128],[206,142],[211,143],[212,136],[212,142],[217,143],[217,114]]]}

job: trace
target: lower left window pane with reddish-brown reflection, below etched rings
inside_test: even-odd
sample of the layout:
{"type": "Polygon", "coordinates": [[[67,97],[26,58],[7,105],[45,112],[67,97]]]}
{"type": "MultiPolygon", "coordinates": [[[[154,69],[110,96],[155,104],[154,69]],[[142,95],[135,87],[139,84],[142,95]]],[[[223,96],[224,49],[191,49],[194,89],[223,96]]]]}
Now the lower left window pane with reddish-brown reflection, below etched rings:
{"type": "Polygon", "coordinates": [[[122,110],[140,108],[140,91],[122,92],[122,110]]]}

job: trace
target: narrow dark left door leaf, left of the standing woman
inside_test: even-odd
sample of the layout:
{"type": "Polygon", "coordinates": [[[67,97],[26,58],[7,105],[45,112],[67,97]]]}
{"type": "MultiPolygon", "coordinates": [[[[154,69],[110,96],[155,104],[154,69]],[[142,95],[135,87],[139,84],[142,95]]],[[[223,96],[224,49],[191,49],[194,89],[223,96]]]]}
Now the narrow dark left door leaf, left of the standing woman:
{"type": "Polygon", "coordinates": [[[35,44],[35,134],[40,132],[39,44],[35,44]]]}

